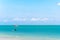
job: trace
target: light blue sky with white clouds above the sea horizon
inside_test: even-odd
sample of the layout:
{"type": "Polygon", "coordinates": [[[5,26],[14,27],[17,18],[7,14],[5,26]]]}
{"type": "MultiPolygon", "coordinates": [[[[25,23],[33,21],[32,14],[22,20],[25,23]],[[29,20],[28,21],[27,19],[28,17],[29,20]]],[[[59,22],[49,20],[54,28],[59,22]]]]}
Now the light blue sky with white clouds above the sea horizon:
{"type": "Polygon", "coordinates": [[[60,25],[60,0],[0,0],[0,25],[60,25]]]}

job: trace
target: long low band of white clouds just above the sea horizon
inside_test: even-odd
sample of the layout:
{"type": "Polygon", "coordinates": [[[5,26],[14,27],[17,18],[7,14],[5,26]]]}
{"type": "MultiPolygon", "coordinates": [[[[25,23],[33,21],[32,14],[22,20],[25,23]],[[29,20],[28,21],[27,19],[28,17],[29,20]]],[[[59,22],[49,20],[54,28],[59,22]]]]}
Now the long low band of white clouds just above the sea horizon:
{"type": "Polygon", "coordinates": [[[5,23],[7,23],[7,22],[24,22],[24,21],[29,21],[29,22],[31,22],[31,21],[34,21],[34,22],[36,22],[36,21],[38,21],[38,22],[40,22],[40,21],[48,21],[49,20],[49,18],[19,18],[19,17],[16,17],[16,18],[12,18],[12,19],[3,19],[3,20],[0,20],[0,22],[5,22],[5,23]]]}

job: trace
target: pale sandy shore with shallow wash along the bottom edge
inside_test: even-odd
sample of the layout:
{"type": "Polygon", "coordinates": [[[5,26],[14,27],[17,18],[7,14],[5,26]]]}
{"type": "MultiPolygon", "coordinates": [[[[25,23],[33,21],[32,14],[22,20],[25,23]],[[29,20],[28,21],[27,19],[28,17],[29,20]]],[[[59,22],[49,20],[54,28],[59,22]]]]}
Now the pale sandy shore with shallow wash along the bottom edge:
{"type": "Polygon", "coordinates": [[[0,34],[0,40],[60,40],[60,38],[48,36],[14,36],[7,34],[0,34]]]}

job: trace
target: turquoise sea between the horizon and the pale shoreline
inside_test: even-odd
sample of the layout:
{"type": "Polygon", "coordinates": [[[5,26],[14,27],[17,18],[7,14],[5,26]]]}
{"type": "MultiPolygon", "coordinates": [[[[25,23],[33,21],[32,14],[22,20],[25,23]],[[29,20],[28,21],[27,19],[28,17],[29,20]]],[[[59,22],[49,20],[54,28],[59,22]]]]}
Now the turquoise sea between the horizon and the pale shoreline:
{"type": "Polygon", "coordinates": [[[17,31],[13,25],[0,25],[0,33],[18,36],[55,36],[60,37],[60,25],[18,25],[17,31]]]}

